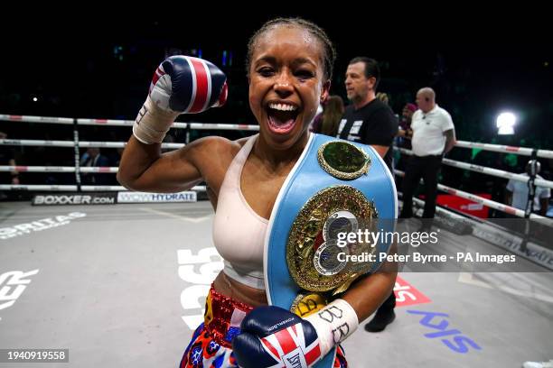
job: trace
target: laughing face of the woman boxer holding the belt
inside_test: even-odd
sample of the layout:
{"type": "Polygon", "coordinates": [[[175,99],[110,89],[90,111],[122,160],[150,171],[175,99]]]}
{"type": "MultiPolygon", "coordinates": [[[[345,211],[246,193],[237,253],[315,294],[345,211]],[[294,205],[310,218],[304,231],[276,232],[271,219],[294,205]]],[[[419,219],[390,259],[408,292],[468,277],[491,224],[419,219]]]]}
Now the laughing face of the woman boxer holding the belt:
{"type": "Polygon", "coordinates": [[[306,137],[330,88],[323,74],[323,45],[304,29],[280,25],[259,36],[249,67],[249,106],[267,143],[287,149],[306,137]]]}

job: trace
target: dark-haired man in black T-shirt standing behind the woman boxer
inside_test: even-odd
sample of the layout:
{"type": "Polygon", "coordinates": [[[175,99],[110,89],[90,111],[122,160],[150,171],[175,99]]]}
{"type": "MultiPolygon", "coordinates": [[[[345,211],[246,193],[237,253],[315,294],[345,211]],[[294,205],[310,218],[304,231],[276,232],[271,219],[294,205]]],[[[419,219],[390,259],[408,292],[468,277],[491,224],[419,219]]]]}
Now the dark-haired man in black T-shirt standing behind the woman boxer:
{"type": "MultiPolygon", "coordinates": [[[[380,68],[376,60],[359,57],[350,61],[345,75],[345,87],[351,105],[343,114],[338,136],[348,141],[369,144],[384,159],[392,171],[392,142],[398,133],[398,119],[387,104],[376,98],[380,68]]],[[[379,332],[391,323],[396,314],[396,296],[389,298],[365,325],[369,332],[379,332]]]]}

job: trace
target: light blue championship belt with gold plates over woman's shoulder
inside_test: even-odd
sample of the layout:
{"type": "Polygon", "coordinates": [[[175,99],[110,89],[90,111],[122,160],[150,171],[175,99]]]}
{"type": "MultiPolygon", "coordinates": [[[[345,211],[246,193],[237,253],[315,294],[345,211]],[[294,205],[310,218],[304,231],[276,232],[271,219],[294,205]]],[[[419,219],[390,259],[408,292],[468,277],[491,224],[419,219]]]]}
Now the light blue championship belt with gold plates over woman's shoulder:
{"type": "MultiPolygon", "coordinates": [[[[269,304],[306,317],[377,271],[379,254],[388,253],[391,242],[375,242],[370,234],[392,232],[397,207],[393,177],[370,146],[310,134],[269,219],[269,304]]],[[[315,367],[332,367],[334,355],[335,349],[315,367]]]]}

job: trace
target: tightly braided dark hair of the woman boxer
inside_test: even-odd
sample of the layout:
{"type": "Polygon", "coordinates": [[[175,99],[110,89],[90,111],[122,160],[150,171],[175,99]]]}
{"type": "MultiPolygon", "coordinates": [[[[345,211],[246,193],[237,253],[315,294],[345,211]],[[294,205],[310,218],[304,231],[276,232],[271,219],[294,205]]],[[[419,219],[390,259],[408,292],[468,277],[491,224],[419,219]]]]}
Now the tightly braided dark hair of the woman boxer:
{"type": "Polygon", "coordinates": [[[276,18],[268,21],[259,28],[258,32],[255,32],[253,36],[248,41],[248,54],[246,56],[246,73],[249,74],[249,67],[251,63],[251,57],[253,56],[253,51],[256,47],[256,42],[258,41],[259,36],[263,33],[277,28],[279,25],[295,26],[301,29],[304,29],[307,32],[310,32],[314,35],[323,45],[323,61],[324,61],[324,78],[330,80],[333,78],[333,66],[334,60],[336,60],[336,50],[334,49],[333,42],[330,41],[326,32],[323,31],[321,27],[306,21],[302,18],[276,18]]]}

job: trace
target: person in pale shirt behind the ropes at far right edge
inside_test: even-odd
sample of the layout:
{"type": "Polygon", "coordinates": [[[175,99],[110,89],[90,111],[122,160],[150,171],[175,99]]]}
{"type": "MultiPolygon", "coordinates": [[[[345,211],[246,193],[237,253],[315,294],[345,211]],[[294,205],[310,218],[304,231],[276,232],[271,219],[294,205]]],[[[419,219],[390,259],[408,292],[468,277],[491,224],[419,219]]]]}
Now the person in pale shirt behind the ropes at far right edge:
{"type": "MultiPolygon", "coordinates": [[[[536,179],[543,179],[538,175],[541,165],[536,161],[536,179]]],[[[531,170],[531,161],[526,164],[526,172],[522,175],[529,176],[531,170]]],[[[507,192],[505,203],[510,204],[512,207],[519,208],[523,211],[526,210],[528,203],[528,183],[510,179],[507,183],[507,192]]],[[[538,213],[541,216],[546,216],[548,212],[548,202],[551,197],[551,189],[545,187],[536,187],[534,192],[534,208],[533,212],[538,213]]]]}

